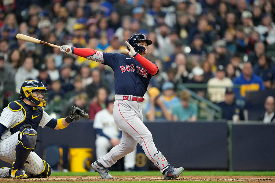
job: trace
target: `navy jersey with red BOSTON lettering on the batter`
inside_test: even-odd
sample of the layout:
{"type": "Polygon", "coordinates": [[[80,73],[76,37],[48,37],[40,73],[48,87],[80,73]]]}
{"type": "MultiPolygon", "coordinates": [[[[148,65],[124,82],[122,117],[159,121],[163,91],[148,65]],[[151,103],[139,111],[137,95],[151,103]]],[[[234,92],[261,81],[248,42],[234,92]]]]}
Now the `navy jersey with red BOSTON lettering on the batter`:
{"type": "Polygon", "coordinates": [[[117,95],[144,96],[152,76],[136,59],[123,54],[105,52],[103,58],[104,64],[114,71],[117,95]]]}

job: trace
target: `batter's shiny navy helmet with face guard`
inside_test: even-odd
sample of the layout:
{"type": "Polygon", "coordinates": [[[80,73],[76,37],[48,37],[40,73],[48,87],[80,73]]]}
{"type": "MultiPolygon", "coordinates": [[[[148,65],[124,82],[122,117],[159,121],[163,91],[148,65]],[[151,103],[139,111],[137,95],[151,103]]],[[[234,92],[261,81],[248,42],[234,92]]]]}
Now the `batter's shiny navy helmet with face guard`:
{"type": "MultiPolygon", "coordinates": [[[[144,34],[134,34],[128,39],[128,43],[134,47],[134,50],[138,53],[142,53],[145,51],[145,47],[139,45],[138,41],[146,41],[147,46],[152,44],[152,41],[147,39],[144,34]]],[[[130,50],[127,46],[127,49],[130,50]]]]}

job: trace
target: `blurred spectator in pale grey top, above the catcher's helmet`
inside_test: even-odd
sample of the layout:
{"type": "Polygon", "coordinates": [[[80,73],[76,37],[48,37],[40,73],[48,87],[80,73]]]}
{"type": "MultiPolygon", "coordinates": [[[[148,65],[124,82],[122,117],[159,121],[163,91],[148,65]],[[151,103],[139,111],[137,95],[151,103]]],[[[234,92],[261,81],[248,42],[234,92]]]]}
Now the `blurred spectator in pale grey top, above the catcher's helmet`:
{"type": "Polygon", "coordinates": [[[27,79],[35,80],[39,75],[39,71],[34,68],[33,58],[26,57],[24,63],[18,68],[15,74],[16,91],[20,91],[21,85],[27,79]]]}

